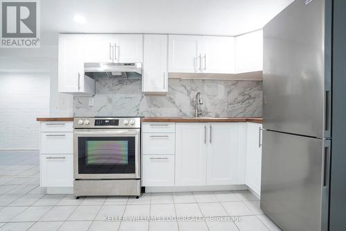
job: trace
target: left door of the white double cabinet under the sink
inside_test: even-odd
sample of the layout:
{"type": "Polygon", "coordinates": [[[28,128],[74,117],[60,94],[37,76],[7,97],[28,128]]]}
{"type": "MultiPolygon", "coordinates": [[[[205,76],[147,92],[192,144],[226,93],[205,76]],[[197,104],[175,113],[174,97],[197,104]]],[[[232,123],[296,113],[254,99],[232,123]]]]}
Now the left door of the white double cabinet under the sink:
{"type": "Polygon", "coordinates": [[[206,132],[206,123],[176,123],[176,186],[206,185],[206,132]]]}

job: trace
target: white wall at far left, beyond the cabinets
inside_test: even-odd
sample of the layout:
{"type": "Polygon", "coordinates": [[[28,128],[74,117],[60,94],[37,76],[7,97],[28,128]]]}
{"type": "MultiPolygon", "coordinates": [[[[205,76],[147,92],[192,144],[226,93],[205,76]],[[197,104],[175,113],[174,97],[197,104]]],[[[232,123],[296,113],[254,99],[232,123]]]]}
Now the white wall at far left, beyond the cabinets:
{"type": "Polygon", "coordinates": [[[49,74],[0,72],[0,150],[38,149],[36,117],[49,114],[49,74]]]}

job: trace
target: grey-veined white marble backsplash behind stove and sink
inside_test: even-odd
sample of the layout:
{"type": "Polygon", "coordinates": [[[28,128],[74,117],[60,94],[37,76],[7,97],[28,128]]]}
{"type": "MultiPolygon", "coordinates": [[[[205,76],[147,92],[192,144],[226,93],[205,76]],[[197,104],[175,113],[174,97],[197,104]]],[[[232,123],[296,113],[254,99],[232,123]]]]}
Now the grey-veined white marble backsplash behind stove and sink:
{"type": "Polygon", "coordinates": [[[202,117],[262,117],[262,82],[170,79],[167,96],[144,96],[141,80],[95,81],[90,96],[74,96],[75,117],[193,117],[194,99],[201,92],[202,117]]]}

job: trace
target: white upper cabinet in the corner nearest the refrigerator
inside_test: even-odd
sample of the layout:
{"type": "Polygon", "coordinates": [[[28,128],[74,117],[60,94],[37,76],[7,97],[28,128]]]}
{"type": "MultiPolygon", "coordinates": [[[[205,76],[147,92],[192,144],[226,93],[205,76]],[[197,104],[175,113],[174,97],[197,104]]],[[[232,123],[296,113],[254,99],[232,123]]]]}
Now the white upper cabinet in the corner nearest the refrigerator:
{"type": "Polygon", "coordinates": [[[263,69],[263,31],[235,37],[235,72],[246,73],[263,69]]]}

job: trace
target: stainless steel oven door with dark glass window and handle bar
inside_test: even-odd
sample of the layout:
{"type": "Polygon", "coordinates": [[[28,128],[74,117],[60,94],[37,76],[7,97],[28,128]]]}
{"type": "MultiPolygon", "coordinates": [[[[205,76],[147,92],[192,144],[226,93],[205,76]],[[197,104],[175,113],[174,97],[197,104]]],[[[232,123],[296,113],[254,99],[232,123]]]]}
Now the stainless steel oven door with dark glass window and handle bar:
{"type": "Polygon", "coordinates": [[[75,129],[75,179],[140,178],[140,129],[75,129]]]}

